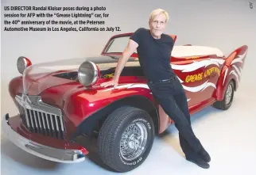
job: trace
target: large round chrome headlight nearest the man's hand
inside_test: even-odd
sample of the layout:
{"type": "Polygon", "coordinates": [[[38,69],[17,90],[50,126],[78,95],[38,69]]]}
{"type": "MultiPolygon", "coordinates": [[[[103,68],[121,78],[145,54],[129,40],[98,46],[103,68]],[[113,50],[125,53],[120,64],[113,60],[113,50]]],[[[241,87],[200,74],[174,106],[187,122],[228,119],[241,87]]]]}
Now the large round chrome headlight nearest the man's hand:
{"type": "Polygon", "coordinates": [[[80,65],[78,79],[83,86],[87,87],[94,85],[97,82],[98,77],[99,68],[95,63],[85,61],[80,65]]]}

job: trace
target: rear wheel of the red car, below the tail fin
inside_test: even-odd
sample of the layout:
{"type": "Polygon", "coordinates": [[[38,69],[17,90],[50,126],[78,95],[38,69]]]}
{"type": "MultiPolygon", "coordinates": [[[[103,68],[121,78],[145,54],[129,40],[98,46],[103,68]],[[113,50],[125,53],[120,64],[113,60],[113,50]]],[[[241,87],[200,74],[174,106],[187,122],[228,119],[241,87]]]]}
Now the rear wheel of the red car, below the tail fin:
{"type": "Polygon", "coordinates": [[[227,110],[232,105],[234,93],[235,93],[235,84],[233,81],[231,81],[227,85],[227,89],[225,91],[223,101],[216,101],[213,104],[213,106],[215,108],[227,110]]]}

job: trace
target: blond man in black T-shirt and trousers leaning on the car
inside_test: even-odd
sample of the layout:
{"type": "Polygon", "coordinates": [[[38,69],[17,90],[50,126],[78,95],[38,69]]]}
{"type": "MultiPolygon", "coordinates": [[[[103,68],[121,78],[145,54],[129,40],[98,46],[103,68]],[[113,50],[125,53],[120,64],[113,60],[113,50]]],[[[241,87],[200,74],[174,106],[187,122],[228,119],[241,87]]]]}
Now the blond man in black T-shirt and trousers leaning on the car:
{"type": "Polygon", "coordinates": [[[118,86],[118,78],[126,61],[137,49],[139,63],[149,80],[149,89],[166,114],[174,120],[186,159],[207,169],[211,158],[192,131],[184,89],[169,62],[174,41],[163,33],[168,20],[169,14],[165,10],[153,10],[149,17],[149,30],[140,28],[134,32],[118,60],[114,78],[101,86],[118,86]]]}

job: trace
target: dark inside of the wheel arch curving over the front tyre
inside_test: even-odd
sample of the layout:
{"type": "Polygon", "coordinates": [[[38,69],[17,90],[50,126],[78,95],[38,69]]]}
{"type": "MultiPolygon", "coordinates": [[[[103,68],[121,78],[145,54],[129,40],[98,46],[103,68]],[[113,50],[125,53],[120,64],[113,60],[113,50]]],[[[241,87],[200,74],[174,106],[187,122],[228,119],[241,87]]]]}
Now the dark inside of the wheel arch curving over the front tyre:
{"type": "Polygon", "coordinates": [[[152,117],[153,123],[156,127],[155,130],[158,131],[159,116],[156,106],[153,104],[152,101],[149,100],[149,98],[142,95],[134,95],[118,99],[117,101],[113,101],[111,102],[111,104],[107,105],[104,108],[100,108],[98,111],[91,114],[91,116],[88,116],[76,127],[76,131],[72,135],[72,139],[75,139],[76,136],[79,135],[91,135],[93,131],[99,130],[104,120],[107,119],[107,116],[109,116],[111,112],[114,111],[114,109],[122,107],[124,105],[142,108],[146,112],[149,112],[149,115],[152,117]]]}

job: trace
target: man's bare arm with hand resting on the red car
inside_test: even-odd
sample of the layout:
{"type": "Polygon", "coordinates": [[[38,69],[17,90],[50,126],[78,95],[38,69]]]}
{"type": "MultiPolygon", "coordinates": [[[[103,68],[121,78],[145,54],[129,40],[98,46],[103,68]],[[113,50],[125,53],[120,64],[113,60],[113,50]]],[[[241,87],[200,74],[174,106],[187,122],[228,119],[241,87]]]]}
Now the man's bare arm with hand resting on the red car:
{"type": "Polygon", "coordinates": [[[122,52],[122,56],[118,60],[118,65],[114,72],[114,78],[110,82],[103,82],[100,86],[118,86],[118,79],[122,69],[125,67],[127,60],[130,58],[130,55],[134,53],[136,48],[138,48],[138,43],[136,43],[134,40],[129,40],[125,50],[122,52]]]}

